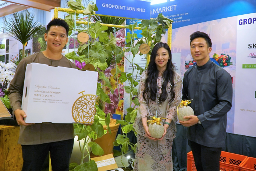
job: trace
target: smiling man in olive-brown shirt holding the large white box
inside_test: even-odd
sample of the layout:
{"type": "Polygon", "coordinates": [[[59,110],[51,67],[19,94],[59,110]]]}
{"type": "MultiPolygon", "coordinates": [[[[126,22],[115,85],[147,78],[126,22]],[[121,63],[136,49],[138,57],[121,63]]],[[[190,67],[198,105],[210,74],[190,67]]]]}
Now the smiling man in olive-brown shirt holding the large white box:
{"type": "Polygon", "coordinates": [[[22,59],[17,66],[14,79],[10,83],[10,104],[15,115],[14,118],[21,125],[18,143],[22,146],[24,160],[22,171],[41,170],[49,151],[53,171],[69,170],[74,143],[73,124],[27,124],[24,121],[26,114],[21,110],[25,71],[28,63],[77,68],[61,54],[63,47],[68,42],[68,31],[68,24],[64,20],[53,19],[50,21],[45,33],[46,50],[22,59]]]}

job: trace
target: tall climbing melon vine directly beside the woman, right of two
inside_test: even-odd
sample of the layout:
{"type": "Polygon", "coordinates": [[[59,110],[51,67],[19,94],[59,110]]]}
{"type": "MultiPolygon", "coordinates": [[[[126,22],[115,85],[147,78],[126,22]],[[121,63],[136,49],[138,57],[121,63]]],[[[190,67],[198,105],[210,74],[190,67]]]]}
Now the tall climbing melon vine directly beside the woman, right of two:
{"type": "MultiPolygon", "coordinates": [[[[135,136],[136,132],[133,128],[133,123],[135,122],[135,118],[137,117],[137,111],[139,106],[138,101],[138,89],[136,88],[138,85],[138,73],[139,75],[142,74],[144,70],[147,68],[147,64],[145,65],[145,68],[140,67],[138,64],[134,63],[135,55],[139,53],[139,46],[143,43],[150,45],[150,51],[148,54],[145,54],[145,59],[147,61],[147,58],[149,58],[151,51],[154,47],[154,45],[161,41],[162,34],[166,33],[166,29],[169,28],[173,21],[171,19],[168,19],[164,17],[162,14],[159,14],[157,18],[153,18],[150,20],[142,20],[141,24],[139,24],[140,30],[142,30],[142,38],[138,38],[136,33],[134,33],[134,28],[137,26],[137,23],[127,25],[126,28],[129,29],[131,33],[127,33],[126,38],[126,44],[125,44],[125,52],[127,54],[125,55],[125,59],[132,65],[132,71],[129,72],[121,72],[120,77],[118,78],[121,83],[127,82],[126,86],[124,86],[124,90],[126,93],[129,94],[129,108],[127,108],[127,115],[125,116],[124,120],[118,120],[117,123],[120,123],[122,125],[122,133],[117,136],[117,139],[114,142],[114,146],[120,146],[121,148],[121,155],[125,155],[129,152],[129,146],[131,147],[131,150],[136,152],[136,146],[137,144],[132,144],[127,138],[127,133],[133,131],[135,136]],[[130,56],[132,58],[130,59],[130,56]],[[127,58],[128,57],[128,58],[127,58]],[[136,73],[134,73],[134,70],[138,70],[136,73]]],[[[124,52],[123,52],[124,53],[124,52]]],[[[139,55],[143,55],[142,53],[139,53],[139,55]]],[[[121,56],[124,56],[122,54],[121,56]]],[[[120,62],[121,56],[117,57],[117,62],[120,62]]],[[[122,157],[121,157],[122,159],[122,157]]],[[[121,160],[122,162],[122,160],[121,160]]],[[[122,163],[124,165],[124,163],[122,163]]]]}

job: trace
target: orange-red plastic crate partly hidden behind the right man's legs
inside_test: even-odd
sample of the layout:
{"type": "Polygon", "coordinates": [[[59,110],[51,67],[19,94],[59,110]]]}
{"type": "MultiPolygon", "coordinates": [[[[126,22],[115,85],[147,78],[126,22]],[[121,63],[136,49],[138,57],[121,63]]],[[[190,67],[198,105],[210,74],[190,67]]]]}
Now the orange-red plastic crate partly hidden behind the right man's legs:
{"type": "MultiPolygon", "coordinates": [[[[240,166],[245,162],[247,156],[221,152],[220,171],[240,171],[240,166]]],[[[192,151],[188,153],[187,171],[196,171],[195,161],[192,151]]]]}

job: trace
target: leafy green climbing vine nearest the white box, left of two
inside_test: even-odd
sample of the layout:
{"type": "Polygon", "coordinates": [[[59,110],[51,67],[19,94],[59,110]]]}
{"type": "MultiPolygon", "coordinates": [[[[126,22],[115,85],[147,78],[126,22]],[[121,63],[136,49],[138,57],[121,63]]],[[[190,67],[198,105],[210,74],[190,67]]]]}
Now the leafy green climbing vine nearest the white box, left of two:
{"type": "MultiPolygon", "coordinates": [[[[72,10],[83,10],[83,15],[88,17],[88,24],[77,24],[77,21],[86,21],[84,18],[80,18],[76,13],[68,13],[65,17],[65,21],[70,27],[68,33],[69,38],[75,38],[75,32],[85,32],[89,35],[89,40],[86,43],[81,43],[78,47],[77,53],[72,51],[67,53],[65,57],[78,61],[82,65],[92,64],[95,67],[95,71],[98,72],[99,79],[101,82],[97,83],[96,95],[96,114],[94,117],[94,122],[90,126],[82,124],[74,124],[75,135],[78,136],[79,147],[81,150],[81,161],[80,163],[70,164],[70,170],[74,171],[97,171],[97,165],[94,160],[90,160],[90,153],[92,152],[96,156],[102,156],[104,154],[103,149],[95,142],[89,142],[90,139],[97,139],[102,137],[107,131],[110,132],[110,114],[104,113],[104,103],[111,103],[110,98],[105,93],[105,89],[108,88],[113,93],[111,88],[111,83],[109,79],[104,75],[104,70],[108,67],[108,57],[118,56],[122,53],[121,47],[116,46],[117,38],[114,37],[113,33],[108,36],[105,32],[108,27],[102,26],[100,21],[96,23],[89,24],[90,18],[97,11],[97,6],[94,3],[88,4],[85,8],[82,6],[82,0],[68,1],[68,7],[72,10]],[[103,129],[103,125],[107,125],[107,130],[103,129]],[[89,143],[88,143],[89,142],[89,143]],[[91,148],[89,148],[89,147],[91,148]],[[84,163],[84,159],[89,157],[89,161],[84,163]]],[[[69,44],[70,42],[68,42],[69,44]]],[[[67,46],[69,48],[69,46],[67,46]]],[[[76,48],[76,47],[74,47],[76,48]]],[[[79,81],[78,81],[79,82],[79,81]]],[[[111,133],[111,132],[110,132],[111,133]]]]}

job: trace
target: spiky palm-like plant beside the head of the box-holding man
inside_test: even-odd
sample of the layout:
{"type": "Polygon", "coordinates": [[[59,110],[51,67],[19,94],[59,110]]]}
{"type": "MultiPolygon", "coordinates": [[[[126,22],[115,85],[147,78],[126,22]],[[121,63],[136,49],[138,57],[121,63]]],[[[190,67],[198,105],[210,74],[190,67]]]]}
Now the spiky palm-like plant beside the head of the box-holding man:
{"type": "Polygon", "coordinates": [[[33,22],[34,16],[24,13],[13,13],[10,21],[6,21],[7,34],[19,40],[22,43],[22,57],[25,56],[25,43],[36,37],[36,32],[41,31],[43,26],[37,26],[37,22],[33,22]]]}

